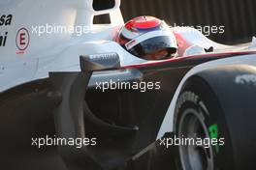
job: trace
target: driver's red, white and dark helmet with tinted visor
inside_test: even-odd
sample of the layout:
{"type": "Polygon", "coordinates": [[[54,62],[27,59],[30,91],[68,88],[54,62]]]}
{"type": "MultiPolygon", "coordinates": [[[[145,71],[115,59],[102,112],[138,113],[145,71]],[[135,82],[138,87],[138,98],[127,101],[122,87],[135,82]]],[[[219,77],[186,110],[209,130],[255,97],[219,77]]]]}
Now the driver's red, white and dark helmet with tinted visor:
{"type": "Polygon", "coordinates": [[[144,60],[169,59],[177,53],[173,31],[165,21],[153,16],[139,16],[126,22],[115,42],[144,60]]]}

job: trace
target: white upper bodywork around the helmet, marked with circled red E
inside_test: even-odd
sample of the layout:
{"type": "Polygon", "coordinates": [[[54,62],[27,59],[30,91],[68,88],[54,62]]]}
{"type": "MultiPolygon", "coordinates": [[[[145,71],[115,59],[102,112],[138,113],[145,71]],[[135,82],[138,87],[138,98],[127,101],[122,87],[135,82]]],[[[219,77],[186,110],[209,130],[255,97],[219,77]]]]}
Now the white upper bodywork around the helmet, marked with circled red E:
{"type": "MultiPolygon", "coordinates": [[[[12,14],[10,25],[3,25],[0,34],[8,32],[5,46],[0,46],[0,92],[20,84],[48,77],[49,71],[80,71],[80,55],[116,52],[122,66],[145,62],[124,50],[112,39],[123,18],[120,13],[120,0],[107,11],[94,11],[93,0],[8,0],[1,1],[1,15],[12,14]],[[111,24],[94,25],[93,16],[110,14],[111,24]],[[66,27],[86,26],[89,31],[77,36],[71,33],[36,34],[34,28],[42,25],[60,25],[66,27]],[[19,50],[18,31],[25,28],[29,41],[27,48],[19,50]]],[[[0,15],[0,17],[1,17],[0,15]]],[[[199,31],[176,31],[189,43],[227,48],[228,46],[212,42],[199,31]]],[[[192,50],[193,51],[193,50],[192,50]]]]}

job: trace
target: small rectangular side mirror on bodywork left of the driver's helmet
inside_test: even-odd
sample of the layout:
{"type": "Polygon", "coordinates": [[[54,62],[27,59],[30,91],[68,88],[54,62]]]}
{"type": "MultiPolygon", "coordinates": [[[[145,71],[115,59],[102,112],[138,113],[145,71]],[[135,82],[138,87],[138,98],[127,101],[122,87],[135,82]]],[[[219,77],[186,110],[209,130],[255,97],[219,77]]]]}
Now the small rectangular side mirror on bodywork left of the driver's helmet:
{"type": "Polygon", "coordinates": [[[80,56],[81,71],[108,71],[118,69],[120,69],[120,58],[117,53],[80,56]]]}

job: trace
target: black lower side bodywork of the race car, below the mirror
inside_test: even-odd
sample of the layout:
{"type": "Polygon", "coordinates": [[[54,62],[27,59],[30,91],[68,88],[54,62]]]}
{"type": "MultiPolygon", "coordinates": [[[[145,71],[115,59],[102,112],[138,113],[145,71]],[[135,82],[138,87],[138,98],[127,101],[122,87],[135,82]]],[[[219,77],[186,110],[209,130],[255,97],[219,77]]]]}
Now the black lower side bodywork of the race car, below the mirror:
{"type": "MultiPolygon", "coordinates": [[[[108,90],[103,93],[93,85],[86,87],[91,71],[52,73],[51,79],[4,92],[0,99],[1,165],[3,169],[22,166],[25,168],[20,169],[28,170],[65,169],[67,166],[72,169],[133,169],[136,165],[131,163],[132,157],[154,143],[185,73],[196,65],[223,57],[235,56],[195,57],[122,68],[137,72],[136,76],[129,75],[124,81],[161,82],[160,90],[144,93],[139,90],[108,90]],[[81,93],[85,90],[85,94],[81,93]],[[59,105],[61,103],[63,107],[59,105]],[[69,105],[68,108],[65,105],[69,105]],[[66,116],[63,117],[64,112],[66,116]],[[97,137],[99,144],[82,150],[31,146],[32,137],[46,135],[97,137]]],[[[157,149],[154,145],[151,148],[157,149]]],[[[143,161],[146,167],[139,165],[138,168],[146,169],[146,161],[150,160],[148,156],[157,156],[146,153],[143,155],[147,157],[143,161]]],[[[154,164],[157,161],[150,162],[154,164]]]]}

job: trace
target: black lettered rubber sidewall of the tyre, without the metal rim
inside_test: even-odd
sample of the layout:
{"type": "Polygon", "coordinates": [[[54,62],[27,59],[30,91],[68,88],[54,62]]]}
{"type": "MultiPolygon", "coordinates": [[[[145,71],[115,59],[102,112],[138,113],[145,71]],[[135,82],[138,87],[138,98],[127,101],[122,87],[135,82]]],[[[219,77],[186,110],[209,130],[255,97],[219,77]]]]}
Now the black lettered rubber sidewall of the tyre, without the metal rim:
{"type": "MultiPolygon", "coordinates": [[[[208,84],[200,78],[195,78],[193,81],[186,83],[179,95],[179,98],[177,99],[175,112],[176,134],[180,118],[188,108],[195,109],[197,111],[201,110],[204,123],[208,128],[208,133],[210,133],[209,129],[212,126],[217,126],[217,138],[224,138],[225,144],[223,146],[218,146],[218,149],[216,149],[215,146],[211,147],[213,151],[214,170],[234,169],[233,152],[228,132],[229,130],[225,121],[225,115],[208,84]]],[[[177,166],[181,169],[179,153],[176,162],[177,166]]]]}

